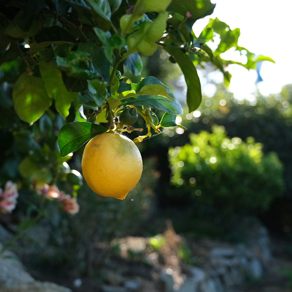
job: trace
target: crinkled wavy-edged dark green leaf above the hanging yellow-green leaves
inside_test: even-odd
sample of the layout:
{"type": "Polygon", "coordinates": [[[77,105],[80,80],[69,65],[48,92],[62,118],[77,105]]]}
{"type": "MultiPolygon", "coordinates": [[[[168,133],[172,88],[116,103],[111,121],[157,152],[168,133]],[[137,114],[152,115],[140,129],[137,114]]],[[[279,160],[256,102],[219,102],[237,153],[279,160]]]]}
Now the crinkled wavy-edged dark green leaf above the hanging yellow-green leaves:
{"type": "Polygon", "coordinates": [[[72,52],[67,58],[56,57],[57,65],[66,69],[67,74],[79,79],[94,79],[100,76],[93,66],[91,56],[85,51],[72,52]]]}

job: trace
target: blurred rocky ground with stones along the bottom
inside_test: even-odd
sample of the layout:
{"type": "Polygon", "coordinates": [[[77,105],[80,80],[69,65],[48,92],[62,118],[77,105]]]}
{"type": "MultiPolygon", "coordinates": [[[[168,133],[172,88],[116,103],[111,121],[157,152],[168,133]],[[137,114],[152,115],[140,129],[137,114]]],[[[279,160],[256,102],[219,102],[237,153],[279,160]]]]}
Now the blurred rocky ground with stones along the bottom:
{"type": "Polygon", "coordinates": [[[292,284],[289,242],[265,227],[246,234],[244,244],[186,241],[171,224],[155,237],[127,237],[96,244],[91,277],[60,277],[24,265],[9,251],[0,256],[1,292],[288,292],[292,284]],[[98,257],[96,257],[98,259],[98,257]],[[54,284],[57,283],[57,284],[54,284]]]}

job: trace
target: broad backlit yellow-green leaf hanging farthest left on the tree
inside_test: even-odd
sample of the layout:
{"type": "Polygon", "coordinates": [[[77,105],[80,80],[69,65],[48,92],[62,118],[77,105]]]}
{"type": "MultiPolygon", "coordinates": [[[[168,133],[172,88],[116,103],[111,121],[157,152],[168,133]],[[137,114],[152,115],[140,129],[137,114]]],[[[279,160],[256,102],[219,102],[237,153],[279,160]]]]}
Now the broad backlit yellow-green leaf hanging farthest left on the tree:
{"type": "Polygon", "coordinates": [[[52,104],[43,80],[27,73],[16,81],[12,97],[15,111],[27,123],[38,120],[52,104]]]}

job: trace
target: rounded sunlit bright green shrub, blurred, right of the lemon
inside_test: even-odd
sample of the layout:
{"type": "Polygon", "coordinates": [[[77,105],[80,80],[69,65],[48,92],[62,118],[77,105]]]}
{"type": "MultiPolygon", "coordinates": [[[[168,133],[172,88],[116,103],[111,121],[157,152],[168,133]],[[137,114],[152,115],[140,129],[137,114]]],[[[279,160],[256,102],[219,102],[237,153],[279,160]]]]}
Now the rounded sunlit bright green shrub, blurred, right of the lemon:
{"type": "Polygon", "coordinates": [[[191,144],[169,150],[173,195],[223,215],[267,210],[284,189],[277,155],[263,155],[252,137],[230,139],[222,126],[212,131],[191,134],[191,144]]]}

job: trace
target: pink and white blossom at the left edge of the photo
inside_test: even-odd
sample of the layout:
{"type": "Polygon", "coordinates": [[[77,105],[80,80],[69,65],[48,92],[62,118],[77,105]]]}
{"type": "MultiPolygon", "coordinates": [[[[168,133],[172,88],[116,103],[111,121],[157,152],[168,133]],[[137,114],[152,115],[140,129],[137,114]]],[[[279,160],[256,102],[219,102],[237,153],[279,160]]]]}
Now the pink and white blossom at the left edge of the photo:
{"type": "Polygon", "coordinates": [[[11,180],[8,180],[5,184],[4,191],[0,188],[0,211],[11,213],[15,209],[17,198],[17,185],[11,180]]]}

